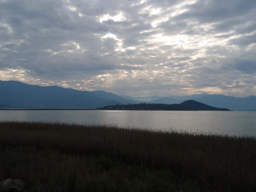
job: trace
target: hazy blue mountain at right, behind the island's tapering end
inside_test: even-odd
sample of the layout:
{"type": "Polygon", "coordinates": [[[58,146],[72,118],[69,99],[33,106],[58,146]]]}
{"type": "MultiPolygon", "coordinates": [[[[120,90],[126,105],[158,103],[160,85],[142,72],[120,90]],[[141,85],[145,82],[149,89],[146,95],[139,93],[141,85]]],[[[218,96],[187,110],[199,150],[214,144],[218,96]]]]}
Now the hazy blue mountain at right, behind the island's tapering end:
{"type": "Polygon", "coordinates": [[[206,95],[194,100],[214,107],[225,107],[230,110],[254,110],[256,109],[256,96],[232,97],[226,95],[206,95]]]}

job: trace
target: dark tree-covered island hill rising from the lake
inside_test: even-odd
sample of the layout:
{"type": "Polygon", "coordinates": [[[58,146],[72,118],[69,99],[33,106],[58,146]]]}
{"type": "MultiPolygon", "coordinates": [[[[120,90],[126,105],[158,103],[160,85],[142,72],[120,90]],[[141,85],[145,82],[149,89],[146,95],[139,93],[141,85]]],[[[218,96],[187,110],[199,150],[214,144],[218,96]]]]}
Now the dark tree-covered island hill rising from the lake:
{"type": "Polygon", "coordinates": [[[155,104],[155,103],[139,103],[128,105],[108,105],[98,108],[101,110],[166,110],[166,111],[230,111],[226,108],[217,108],[200,103],[194,100],[187,100],[180,104],[155,104]]]}

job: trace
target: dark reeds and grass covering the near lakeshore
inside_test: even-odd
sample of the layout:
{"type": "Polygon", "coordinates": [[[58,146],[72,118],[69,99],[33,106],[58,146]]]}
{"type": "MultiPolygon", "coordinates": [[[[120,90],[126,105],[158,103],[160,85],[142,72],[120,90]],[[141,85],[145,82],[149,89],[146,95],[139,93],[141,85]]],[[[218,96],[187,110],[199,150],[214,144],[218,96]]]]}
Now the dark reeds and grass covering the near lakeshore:
{"type": "Polygon", "coordinates": [[[256,191],[256,139],[0,122],[0,181],[30,191],[256,191]]]}

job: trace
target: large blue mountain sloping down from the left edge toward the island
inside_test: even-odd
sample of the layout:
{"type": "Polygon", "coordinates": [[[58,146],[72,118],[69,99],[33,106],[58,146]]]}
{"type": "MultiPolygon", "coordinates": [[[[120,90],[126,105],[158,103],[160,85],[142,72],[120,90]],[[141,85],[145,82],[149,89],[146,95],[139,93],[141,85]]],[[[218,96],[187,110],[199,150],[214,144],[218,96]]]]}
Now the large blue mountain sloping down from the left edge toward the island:
{"type": "Polygon", "coordinates": [[[15,108],[97,108],[117,103],[136,103],[104,91],[42,87],[18,81],[0,81],[0,90],[0,104],[15,108]]]}

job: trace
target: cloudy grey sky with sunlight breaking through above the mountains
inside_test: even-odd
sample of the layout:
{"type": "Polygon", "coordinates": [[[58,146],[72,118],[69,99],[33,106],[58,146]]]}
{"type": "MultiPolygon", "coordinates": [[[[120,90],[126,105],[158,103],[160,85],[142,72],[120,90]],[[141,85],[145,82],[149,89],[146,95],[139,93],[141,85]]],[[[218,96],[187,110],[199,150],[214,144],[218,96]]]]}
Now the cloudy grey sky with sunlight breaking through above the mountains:
{"type": "Polygon", "coordinates": [[[0,0],[0,80],[256,95],[255,0],[0,0]]]}

